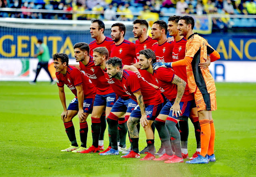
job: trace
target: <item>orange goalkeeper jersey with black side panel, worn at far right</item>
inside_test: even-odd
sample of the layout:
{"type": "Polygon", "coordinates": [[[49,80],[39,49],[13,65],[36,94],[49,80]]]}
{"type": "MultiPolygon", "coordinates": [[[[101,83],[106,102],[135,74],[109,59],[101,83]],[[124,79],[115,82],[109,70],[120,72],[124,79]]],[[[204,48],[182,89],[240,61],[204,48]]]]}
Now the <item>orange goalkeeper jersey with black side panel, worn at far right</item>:
{"type": "Polygon", "coordinates": [[[211,60],[219,58],[218,52],[204,38],[194,33],[187,40],[186,54],[183,61],[180,60],[172,63],[173,67],[186,66],[190,93],[194,93],[197,87],[202,94],[216,91],[214,79],[210,74],[209,68],[200,69],[198,66],[206,61],[205,59],[208,54],[214,57],[211,60]]]}

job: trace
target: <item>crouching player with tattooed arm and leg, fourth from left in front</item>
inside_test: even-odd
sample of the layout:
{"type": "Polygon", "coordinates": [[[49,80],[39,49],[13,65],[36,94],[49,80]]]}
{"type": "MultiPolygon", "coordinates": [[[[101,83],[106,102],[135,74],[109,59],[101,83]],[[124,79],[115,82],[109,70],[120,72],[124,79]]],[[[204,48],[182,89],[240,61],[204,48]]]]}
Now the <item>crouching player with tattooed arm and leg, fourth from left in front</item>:
{"type": "MultiPolygon", "coordinates": [[[[128,70],[122,70],[122,60],[114,57],[107,62],[107,74],[109,78],[116,78],[120,81],[122,89],[132,98],[137,101],[138,105],[132,111],[127,126],[130,133],[132,144],[131,151],[123,155],[123,158],[139,158],[139,134],[136,125],[140,122],[147,137],[148,151],[154,155],[154,133],[151,125],[162,109],[164,99],[156,89],[151,87],[144,78],[138,76],[128,70]]],[[[144,157],[141,160],[146,160],[144,157]]]]}

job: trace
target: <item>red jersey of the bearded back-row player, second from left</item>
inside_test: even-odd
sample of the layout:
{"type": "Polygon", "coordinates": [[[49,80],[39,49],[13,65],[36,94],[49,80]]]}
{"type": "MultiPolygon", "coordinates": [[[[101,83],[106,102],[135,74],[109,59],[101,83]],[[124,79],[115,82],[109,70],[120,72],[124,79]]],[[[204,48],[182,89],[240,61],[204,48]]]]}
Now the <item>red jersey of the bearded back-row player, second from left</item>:
{"type": "Polygon", "coordinates": [[[135,44],[124,40],[121,44],[116,46],[116,44],[111,44],[110,46],[111,54],[110,57],[118,57],[122,60],[122,64],[131,65],[134,63],[135,54],[135,44]]]}

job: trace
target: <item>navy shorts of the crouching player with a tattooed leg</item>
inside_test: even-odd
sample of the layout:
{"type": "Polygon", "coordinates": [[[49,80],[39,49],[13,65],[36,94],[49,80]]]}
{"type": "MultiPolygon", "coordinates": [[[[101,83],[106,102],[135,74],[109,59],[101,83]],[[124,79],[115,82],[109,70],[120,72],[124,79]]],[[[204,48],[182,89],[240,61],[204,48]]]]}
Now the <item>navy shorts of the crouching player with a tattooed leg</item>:
{"type": "MultiPolygon", "coordinates": [[[[156,117],[159,115],[163,106],[164,106],[164,103],[161,103],[159,105],[145,105],[147,119],[154,121],[156,117]]],[[[139,105],[136,105],[130,117],[141,118],[141,111],[140,111],[139,105]]]]}

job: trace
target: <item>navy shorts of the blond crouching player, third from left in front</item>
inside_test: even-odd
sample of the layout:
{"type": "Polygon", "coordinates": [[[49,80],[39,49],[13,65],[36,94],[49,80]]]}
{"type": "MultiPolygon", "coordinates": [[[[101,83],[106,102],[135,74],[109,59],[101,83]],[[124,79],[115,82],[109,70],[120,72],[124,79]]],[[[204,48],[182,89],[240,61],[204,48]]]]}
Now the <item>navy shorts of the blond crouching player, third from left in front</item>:
{"type": "Polygon", "coordinates": [[[93,106],[113,107],[116,99],[116,93],[109,93],[106,95],[96,94],[93,106]]]}

